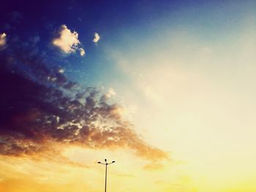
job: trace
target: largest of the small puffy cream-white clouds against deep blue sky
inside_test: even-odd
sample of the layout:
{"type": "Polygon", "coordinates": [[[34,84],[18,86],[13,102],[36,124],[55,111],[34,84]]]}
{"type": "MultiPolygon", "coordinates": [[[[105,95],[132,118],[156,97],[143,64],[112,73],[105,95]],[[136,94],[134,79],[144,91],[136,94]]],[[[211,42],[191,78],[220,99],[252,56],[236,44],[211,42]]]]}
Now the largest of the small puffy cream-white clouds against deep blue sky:
{"type": "Polygon", "coordinates": [[[63,53],[75,53],[80,51],[80,55],[83,56],[85,51],[83,48],[79,48],[80,41],[78,39],[78,32],[70,31],[66,25],[62,25],[58,32],[58,37],[53,39],[53,45],[58,47],[63,53]]]}

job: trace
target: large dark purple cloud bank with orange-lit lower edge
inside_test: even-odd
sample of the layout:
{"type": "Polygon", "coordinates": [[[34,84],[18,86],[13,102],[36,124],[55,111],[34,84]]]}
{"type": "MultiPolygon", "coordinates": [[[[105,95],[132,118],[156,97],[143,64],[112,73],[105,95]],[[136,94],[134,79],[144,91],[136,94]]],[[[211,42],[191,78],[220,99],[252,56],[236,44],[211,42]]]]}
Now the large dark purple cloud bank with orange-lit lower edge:
{"type": "Polygon", "coordinates": [[[59,144],[129,148],[149,160],[167,158],[138,137],[118,104],[108,103],[104,93],[81,88],[57,67],[50,69],[37,40],[26,45],[11,40],[0,52],[1,155],[55,154],[59,144]]]}

